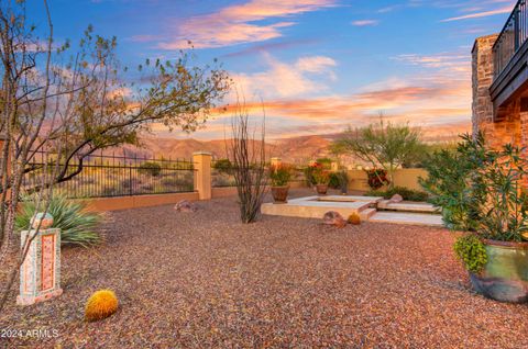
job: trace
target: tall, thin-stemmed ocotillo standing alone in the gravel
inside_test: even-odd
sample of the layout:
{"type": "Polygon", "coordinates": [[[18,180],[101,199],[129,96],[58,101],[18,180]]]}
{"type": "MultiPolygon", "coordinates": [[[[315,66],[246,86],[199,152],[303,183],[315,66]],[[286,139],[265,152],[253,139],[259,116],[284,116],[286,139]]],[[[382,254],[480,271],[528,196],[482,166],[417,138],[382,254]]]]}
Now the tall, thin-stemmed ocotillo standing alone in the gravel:
{"type": "MultiPolygon", "coordinates": [[[[263,109],[264,112],[264,109],[263,109]]],[[[237,103],[231,120],[232,139],[227,151],[233,161],[233,174],[239,195],[240,218],[243,223],[255,222],[267,191],[265,112],[261,124],[260,138],[256,125],[251,131],[250,115],[244,104],[237,103]]]]}

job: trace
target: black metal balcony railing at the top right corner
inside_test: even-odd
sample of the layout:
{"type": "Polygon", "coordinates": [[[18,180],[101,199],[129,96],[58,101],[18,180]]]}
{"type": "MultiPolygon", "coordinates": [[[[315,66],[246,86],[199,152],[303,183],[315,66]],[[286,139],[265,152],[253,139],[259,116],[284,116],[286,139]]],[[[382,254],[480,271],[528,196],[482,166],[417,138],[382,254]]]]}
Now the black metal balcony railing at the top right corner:
{"type": "Polygon", "coordinates": [[[494,77],[497,78],[528,38],[528,9],[526,0],[517,1],[503,31],[493,45],[494,77]]]}

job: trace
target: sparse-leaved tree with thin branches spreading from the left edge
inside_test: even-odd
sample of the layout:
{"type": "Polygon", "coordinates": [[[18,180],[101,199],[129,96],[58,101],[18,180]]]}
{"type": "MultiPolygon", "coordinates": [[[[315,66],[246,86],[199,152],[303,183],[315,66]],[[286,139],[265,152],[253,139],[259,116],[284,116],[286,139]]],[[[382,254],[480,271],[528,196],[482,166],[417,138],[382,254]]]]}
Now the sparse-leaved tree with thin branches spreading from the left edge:
{"type": "MultiPolygon", "coordinates": [[[[38,10],[46,13],[44,27],[30,23],[26,1],[0,2],[3,270],[12,246],[19,199],[28,189],[23,185],[26,173],[45,173],[37,188],[32,188],[40,193],[45,209],[53,184],[77,176],[94,151],[136,144],[138,135],[150,131],[153,123],[191,132],[206,122],[216,101],[230,87],[224,70],[196,67],[193,56],[183,52],[175,61],[146,60],[136,75],[130,75],[116,56],[116,37],[95,35],[90,26],[75,48],[68,41],[57,45],[47,1],[31,5],[40,5],[38,10]],[[51,162],[34,166],[40,150],[53,150],[56,156],[51,162]]],[[[22,249],[6,292],[24,257],[22,249]]],[[[6,300],[0,300],[0,311],[6,300]]]]}

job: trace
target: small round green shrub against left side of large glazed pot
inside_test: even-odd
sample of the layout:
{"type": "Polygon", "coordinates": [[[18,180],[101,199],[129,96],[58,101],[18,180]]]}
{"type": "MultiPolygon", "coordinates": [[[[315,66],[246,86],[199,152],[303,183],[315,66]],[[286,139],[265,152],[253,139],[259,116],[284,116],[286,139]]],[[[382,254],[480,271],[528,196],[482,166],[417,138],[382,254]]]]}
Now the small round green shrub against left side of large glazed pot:
{"type": "Polygon", "coordinates": [[[487,263],[486,247],[474,234],[459,237],[453,249],[465,269],[473,273],[480,273],[487,263]]]}

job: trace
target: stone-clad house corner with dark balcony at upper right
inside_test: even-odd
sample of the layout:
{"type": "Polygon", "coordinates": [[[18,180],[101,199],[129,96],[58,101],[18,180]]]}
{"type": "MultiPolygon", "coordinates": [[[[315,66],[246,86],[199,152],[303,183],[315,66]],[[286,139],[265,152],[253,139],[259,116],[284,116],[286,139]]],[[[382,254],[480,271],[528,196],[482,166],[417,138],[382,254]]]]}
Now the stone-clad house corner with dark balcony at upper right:
{"type": "Polygon", "coordinates": [[[482,132],[494,148],[528,146],[528,20],[520,3],[499,34],[476,38],[472,50],[473,134],[482,132]]]}

